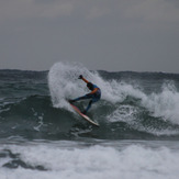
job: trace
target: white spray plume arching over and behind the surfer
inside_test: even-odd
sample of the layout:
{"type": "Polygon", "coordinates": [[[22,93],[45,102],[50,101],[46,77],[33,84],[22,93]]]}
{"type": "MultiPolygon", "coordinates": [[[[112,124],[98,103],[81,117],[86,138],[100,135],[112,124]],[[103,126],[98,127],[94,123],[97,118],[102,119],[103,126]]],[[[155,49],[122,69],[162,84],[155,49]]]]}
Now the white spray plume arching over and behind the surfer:
{"type": "Polygon", "coordinates": [[[67,108],[65,99],[89,92],[86,85],[78,80],[79,75],[100,87],[103,100],[115,103],[124,99],[121,85],[115,80],[105,81],[97,71],[89,71],[80,64],[56,63],[48,72],[48,87],[54,107],[67,108]]]}

